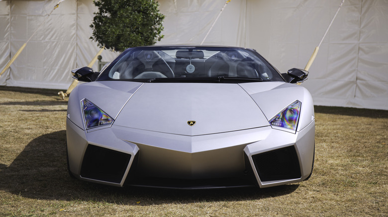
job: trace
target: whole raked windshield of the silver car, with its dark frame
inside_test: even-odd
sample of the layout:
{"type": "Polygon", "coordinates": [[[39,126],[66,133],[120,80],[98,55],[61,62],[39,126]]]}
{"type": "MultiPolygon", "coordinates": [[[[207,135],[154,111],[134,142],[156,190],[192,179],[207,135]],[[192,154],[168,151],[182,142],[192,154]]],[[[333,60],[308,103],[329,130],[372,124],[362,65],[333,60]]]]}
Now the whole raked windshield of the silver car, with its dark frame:
{"type": "Polygon", "coordinates": [[[225,47],[137,47],[124,51],[97,80],[139,82],[284,81],[250,49],[225,47]]]}

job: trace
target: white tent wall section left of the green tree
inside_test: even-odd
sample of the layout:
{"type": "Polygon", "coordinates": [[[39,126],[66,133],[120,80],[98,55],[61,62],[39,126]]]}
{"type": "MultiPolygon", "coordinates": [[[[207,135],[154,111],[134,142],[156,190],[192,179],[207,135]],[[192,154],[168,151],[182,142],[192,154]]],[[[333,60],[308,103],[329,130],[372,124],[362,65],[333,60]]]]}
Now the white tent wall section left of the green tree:
{"type": "MultiPolygon", "coordinates": [[[[45,20],[57,2],[0,1],[0,27],[5,30],[0,33],[1,69],[44,22],[0,77],[0,85],[66,90],[73,80],[70,70],[88,65],[97,54],[99,48],[89,39],[93,0],[62,1],[45,20]]],[[[101,55],[112,59],[116,54],[104,51],[101,55]]]]}

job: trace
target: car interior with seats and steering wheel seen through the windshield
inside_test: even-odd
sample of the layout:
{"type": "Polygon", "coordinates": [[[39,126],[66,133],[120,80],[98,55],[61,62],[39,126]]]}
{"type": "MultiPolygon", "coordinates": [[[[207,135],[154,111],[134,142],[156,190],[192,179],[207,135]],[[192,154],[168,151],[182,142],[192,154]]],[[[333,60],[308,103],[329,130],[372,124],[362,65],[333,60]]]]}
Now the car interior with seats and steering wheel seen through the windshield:
{"type": "Polygon", "coordinates": [[[174,54],[171,51],[168,53],[146,50],[128,53],[110,69],[109,77],[153,79],[225,76],[263,80],[272,77],[268,66],[241,51],[219,51],[209,56],[198,50],[177,50],[174,54]]]}

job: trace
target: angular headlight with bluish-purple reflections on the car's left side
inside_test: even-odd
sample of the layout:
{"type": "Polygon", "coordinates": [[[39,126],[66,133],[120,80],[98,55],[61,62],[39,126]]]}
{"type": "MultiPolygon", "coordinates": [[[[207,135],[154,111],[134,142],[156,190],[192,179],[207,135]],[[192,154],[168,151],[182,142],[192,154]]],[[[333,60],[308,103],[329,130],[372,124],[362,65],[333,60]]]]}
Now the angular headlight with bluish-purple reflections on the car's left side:
{"type": "Polygon", "coordinates": [[[81,101],[86,129],[113,123],[113,118],[87,99],[81,101]]]}

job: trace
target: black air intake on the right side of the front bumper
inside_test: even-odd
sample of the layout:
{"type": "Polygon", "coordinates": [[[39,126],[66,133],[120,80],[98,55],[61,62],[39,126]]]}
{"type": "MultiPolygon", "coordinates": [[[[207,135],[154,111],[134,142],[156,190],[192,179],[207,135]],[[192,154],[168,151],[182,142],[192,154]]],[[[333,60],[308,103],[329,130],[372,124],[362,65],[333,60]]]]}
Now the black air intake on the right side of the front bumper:
{"type": "Polygon", "coordinates": [[[252,156],[261,181],[300,178],[299,161],[293,146],[252,156]]]}

